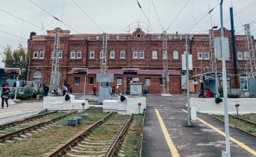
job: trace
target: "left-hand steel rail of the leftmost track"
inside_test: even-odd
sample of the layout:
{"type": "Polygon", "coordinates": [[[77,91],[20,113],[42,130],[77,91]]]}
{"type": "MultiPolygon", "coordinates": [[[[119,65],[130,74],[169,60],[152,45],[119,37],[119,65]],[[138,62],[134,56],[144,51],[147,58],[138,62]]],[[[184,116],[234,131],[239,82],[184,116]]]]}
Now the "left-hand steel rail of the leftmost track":
{"type": "Polygon", "coordinates": [[[34,116],[29,117],[29,118],[23,118],[23,119],[20,119],[20,120],[17,120],[17,121],[13,121],[13,122],[10,122],[10,123],[7,123],[7,124],[3,124],[3,125],[0,125],[0,129],[4,129],[4,128],[10,127],[10,126],[16,126],[16,124],[22,124],[25,121],[31,121],[33,119],[43,118],[43,116],[50,115],[50,114],[55,113],[55,112],[57,112],[57,111],[44,113],[44,114],[41,114],[41,115],[34,115],[34,116]]]}

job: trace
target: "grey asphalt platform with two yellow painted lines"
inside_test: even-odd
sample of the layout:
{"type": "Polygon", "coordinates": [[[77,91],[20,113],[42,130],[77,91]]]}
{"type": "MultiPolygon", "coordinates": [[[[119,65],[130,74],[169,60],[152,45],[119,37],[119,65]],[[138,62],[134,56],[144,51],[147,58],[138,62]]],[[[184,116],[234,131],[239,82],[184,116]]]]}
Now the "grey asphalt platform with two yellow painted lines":
{"type": "MultiPolygon", "coordinates": [[[[192,95],[197,96],[198,94],[192,95]]],[[[198,120],[193,121],[193,126],[187,126],[187,113],[182,110],[187,110],[187,94],[174,97],[147,94],[146,103],[142,156],[172,156],[175,150],[179,156],[222,156],[225,137],[206,124],[225,132],[224,124],[198,112],[198,120]],[[162,124],[159,116],[163,120],[162,124]],[[206,123],[203,124],[201,120],[206,123]],[[162,129],[164,127],[165,131],[162,129]]],[[[256,156],[256,138],[233,128],[230,128],[230,136],[240,142],[230,141],[231,156],[256,156]]]]}

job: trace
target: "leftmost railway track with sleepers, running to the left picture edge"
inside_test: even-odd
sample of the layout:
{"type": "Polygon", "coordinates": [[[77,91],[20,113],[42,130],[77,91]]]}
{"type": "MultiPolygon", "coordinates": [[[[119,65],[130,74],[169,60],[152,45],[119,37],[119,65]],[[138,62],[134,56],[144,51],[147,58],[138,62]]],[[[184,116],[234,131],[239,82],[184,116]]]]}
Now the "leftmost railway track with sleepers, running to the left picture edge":
{"type": "Polygon", "coordinates": [[[4,141],[6,141],[10,138],[20,136],[20,135],[25,134],[27,132],[31,132],[34,129],[39,129],[40,127],[48,126],[49,124],[52,124],[55,121],[60,121],[62,118],[66,117],[67,115],[71,115],[75,112],[69,112],[67,114],[60,115],[57,118],[51,118],[51,119],[48,119],[48,120],[45,120],[45,121],[42,121],[42,117],[41,117],[41,115],[39,115],[39,116],[34,116],[32,118],[28,118],[27,120],[24,120],[24,121],[23,120],[20,121],[20,123],[25,122],[25,121],[28,121],[28,123],[22,123],[20,125],[14,125],[14,124],[16,124],[14,122],[14,124],[8,124],[7,126],[10,126],[10,127],[8,127],[8,128],[5,127],[4,129],[0,130],[0,141],[4,142],[4,141]],[[32,121],[34,118],[36,118],[37,121],[32,121]]]}

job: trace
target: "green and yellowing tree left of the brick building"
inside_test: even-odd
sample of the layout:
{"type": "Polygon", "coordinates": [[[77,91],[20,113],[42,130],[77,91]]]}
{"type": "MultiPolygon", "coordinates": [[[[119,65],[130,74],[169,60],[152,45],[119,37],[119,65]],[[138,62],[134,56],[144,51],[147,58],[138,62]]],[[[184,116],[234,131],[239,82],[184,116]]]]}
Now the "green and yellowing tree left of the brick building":
{"type": "MultiPolygon", "coordinates": [[[[2,60],[2,62],[5,65],[5,68],[23,68],[28,69],[28,60],[29,55],[28,51],[26,51],[25,48],[22,47],[20,44],[19,47],[11,51],[11,48],[9,45],[7,45],[7,48],[4,50],[5,58],[2,60]]],[[[8,76],[8,78],[13,79],[13,75],[8,76]]],[[[19,75],[19,79],[25,80],[26,77],[26,71],[22,71],[22,73],[19,75]]]]}

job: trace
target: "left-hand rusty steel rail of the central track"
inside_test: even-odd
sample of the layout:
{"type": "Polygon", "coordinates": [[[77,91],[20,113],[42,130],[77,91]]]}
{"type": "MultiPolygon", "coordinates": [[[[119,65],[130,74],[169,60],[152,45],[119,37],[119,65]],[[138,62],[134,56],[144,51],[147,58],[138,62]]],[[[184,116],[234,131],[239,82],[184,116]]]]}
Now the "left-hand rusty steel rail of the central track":
{"type": "Polygon", "coordinates": [[[89,135],[89,132],[92,131],[96,126],[99,126],[103,124],[105,121],[107,121],[107,118],[112,115],[113,112],[108,114],[106,117],[102,118],[101,120],[97,121],[95,124],[91,125],[88,129],[81,131],[78,133],[78,135],[75,136],[75,138],[70,139],[69,141],[66,142],[66,144],[63,144],[62,146],[58,147],[54,152],[48,155],[48,157],[53,157],[53,156],[61,156],[62,154],[66,153],[67,150],[70,149],[70,147],[75,146],[79,141],[81,141],[85,136],[89,135]]]}

